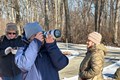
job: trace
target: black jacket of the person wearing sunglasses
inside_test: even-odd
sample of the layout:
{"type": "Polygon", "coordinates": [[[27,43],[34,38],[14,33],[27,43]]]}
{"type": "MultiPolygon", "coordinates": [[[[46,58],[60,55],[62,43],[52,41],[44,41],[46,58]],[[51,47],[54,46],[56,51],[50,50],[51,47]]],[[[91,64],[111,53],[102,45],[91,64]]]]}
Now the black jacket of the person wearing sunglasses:
{"type": "Polygon", "coordinates": [[[0,38],[0,73],[2,76],[13,77],[21,73],[20,69],[15,65],[15,55],[12,53],[5,54],[7,47],[16,48],[21,46],[23,46],[21,36],[10,40],[6,36],[0,38]]]}

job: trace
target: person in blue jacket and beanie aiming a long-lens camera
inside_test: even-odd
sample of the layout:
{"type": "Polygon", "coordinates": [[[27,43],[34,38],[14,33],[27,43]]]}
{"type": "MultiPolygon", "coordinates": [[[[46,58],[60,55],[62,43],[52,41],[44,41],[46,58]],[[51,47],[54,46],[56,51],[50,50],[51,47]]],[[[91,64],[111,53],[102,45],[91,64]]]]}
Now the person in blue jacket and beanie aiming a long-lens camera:
{"type": "Polygon", "coordinates": [[[24,26],[26,46],[18,49],[15,62],[23,72],[23,80],[59,80],[58,71],[68,64],[68,58],[58,48],[54,34],[44,37],[41,26],[24,26]]]}

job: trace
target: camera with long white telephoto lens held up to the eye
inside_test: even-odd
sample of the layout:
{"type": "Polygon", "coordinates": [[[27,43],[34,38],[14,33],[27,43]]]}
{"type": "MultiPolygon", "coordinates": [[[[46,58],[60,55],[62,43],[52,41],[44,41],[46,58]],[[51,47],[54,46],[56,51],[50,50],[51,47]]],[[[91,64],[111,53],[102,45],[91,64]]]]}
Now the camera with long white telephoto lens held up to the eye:
{"type": "Polygon", "coordinates": [[[44,38],[46,38],[48,34],[51,34],[54,38],[61,37],[61,31],[59,29],[42,31],[42,33],[43,33],[44,38]]]}

